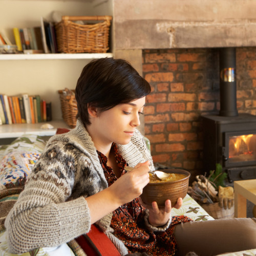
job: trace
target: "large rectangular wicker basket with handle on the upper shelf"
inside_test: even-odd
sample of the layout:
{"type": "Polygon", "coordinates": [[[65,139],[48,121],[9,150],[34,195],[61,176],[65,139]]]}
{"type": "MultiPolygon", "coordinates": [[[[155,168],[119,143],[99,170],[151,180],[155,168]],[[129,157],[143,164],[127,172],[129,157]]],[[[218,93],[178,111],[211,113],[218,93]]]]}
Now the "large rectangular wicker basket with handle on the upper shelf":
{"type": "Polygon", "coordinates": [[[62,16],[55,25],[58,52],[62,53],[105,53],[109,50],[111,16],[62,16]],[[88,25],[75,23],[77,20],[103,20],[88,25]]]}

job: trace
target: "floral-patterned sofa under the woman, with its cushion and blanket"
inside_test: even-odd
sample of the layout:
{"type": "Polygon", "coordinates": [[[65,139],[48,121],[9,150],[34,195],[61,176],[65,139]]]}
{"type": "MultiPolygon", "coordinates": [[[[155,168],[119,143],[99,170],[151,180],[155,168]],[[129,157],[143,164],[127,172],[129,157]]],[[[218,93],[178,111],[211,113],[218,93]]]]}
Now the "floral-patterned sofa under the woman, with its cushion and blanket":
{"type": "MultiPolygon", "coordinates": [[[[42,137],[32,134],[24,134],[8,145],[0,145],[0,256],[14,255],[9,253],[7,248],[4,226],[5,217],[8,214],[8,207],[11,208],[17,200],[18,195],[26,182],[26,177],[31,173],[31,170],[44,150],[45,145],[46,141],[42,137]]],[[[172,210],[172,216],[177,215],[186,215],[194,221],[207,221],[214,219],[189,195],[186,195],[183,199],[183,205],[180,209],[174,208],[172,210]]],[[[228,253],[225,255],[238,256],[255,254],[256,249],[228,253]]],[[[74,240],[58,247],[38,248],[21,255],[82,256],[86,255],[86,253],[79,248],[78,244],[74,240]]]]}

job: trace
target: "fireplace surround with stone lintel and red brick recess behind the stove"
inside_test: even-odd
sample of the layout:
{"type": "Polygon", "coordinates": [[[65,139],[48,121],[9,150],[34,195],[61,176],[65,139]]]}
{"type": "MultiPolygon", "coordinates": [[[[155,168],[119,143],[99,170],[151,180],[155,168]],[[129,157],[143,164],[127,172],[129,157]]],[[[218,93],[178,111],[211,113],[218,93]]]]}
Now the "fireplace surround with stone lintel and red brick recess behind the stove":
{"type": "Polygon", "coordinates": [[[220,110],[219,48],[236,47],[237,109],[256,115],[254,3],[113,0],[113,48],[150,82],[143,131],[155,162],[204,174],[203,115],[220,110]]]}

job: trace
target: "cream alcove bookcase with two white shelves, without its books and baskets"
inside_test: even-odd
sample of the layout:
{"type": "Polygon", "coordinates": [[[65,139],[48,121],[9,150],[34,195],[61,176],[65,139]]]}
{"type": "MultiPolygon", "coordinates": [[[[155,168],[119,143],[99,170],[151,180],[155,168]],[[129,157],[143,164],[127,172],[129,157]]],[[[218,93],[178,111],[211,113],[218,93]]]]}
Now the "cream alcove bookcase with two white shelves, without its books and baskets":
{"type": "MultiPolygon", "coordinates": [[[[40,16],[51,19],[53,11],[69,16],[111,15],[112,0],[0,0],[0,29],[4,28],[15,44],[12,28],[40,26],[40,16]]],[[[58,90],[75,89],[82,68],[92,59],[112,57],[110,53],[78,54],[0,54],[0,93],[8,96],[38,94],[52,102],[52,122],[55,130],[41,130],[36,124],[0,125],[0,139],[14,138],[23,133],[52,136],[57,127],[67,127],[61,121],[58,90]]],[[[1,142],[0,142],[1,144],[1,142]]]]}

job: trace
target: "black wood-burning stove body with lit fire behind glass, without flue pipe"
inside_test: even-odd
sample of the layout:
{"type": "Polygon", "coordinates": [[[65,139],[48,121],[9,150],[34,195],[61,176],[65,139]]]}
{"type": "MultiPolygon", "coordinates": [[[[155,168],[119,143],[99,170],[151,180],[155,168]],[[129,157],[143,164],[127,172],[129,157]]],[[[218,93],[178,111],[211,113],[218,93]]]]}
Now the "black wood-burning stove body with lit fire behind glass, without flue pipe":
{"type": "Polygon", "coordinates": [[[204,169],[223,166],[229,181],[256,178],[256,116],[203,116],[204,169]]]}

